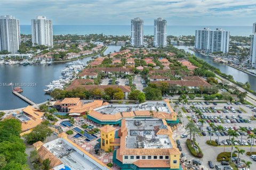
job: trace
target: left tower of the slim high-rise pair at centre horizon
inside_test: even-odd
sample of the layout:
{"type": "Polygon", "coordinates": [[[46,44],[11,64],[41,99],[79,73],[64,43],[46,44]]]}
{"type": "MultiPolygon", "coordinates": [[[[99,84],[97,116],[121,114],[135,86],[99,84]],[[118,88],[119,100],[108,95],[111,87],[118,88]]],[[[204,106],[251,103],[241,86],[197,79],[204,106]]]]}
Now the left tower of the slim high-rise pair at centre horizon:
{"type": "Polygon", "coordinates": [[[143,46],[143,20],[134,18],[131,20],[131,46],[143,46]]]}

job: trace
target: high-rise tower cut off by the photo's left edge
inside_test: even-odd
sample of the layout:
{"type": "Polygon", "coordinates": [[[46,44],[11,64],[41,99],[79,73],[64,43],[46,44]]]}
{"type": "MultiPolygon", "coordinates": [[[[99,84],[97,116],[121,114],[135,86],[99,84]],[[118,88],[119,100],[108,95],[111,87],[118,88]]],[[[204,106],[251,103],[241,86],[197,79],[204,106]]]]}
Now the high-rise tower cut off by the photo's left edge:
{"type": "Polygon", "coordinates": [[[12,15],[0,16],[0,51],[15,54],[20,46],[20,21],[12,15]]]}

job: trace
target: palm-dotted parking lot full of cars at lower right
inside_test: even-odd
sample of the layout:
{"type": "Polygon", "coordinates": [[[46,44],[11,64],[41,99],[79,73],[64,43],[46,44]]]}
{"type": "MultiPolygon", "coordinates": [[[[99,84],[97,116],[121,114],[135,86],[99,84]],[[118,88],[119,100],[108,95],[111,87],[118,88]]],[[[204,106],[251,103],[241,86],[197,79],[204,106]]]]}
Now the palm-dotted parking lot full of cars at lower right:
{"type": "MultiPolygon", "coordinates": [[[[171,105],[172,105],[172,107],[174,107],[176,104],[174,102],[171,105]]],[[[194,120],[196,122],[197,126],[199,125],[198,127],[202,127],[202,131],[205,132],[205,136],[202,135],[202,133],[196,135],[196,142],[198,143],[199,147],[203,151],[204,156],[203,156],[203,158],[200,158],[199,160],[202,162],[203,165],[205,165],[206,169],[210,169],[210,167],[208,165],[209,160],[213,162],[214,166],[220,165],[220,163],[217,162],[217,160],[216,160],[217,155],[220,152],[223,152],[223,151],[230,152],[231,151],[231,146],[227,145],[228,144],[228,143],[226,143],[227,141],[222,142],[222,140],[229,139],[229,135],[226,135],[226,133],[224,133],[224,132],[227,132],[227,129],[233,129],[233,130],[237,129],[238,130],[237,133],[239,133],[239,135],[237,138],[235,138],[235,140],[236,140],[235,144],[237,146],[239,146],[240,149],[244,149],[245,152],[250,151],[251,141],[248,141],[248,139],[247,139],[248,133],[250,133],[253,128],[256,128],[256,125],[255,125],[256,122],[254,120],[252,120],[252,116],[253,116],[252,109],[253,108],[247,107],[245,105],[236,105],[236,104],[228,105],[227,103],[217,103],[217,105],[213,105],[212,102],[209,103],[209,105],[206,105],[205,103],[203,105],[202,103],[198,103],[198,102],[197,102],[197,104],[190,103],[189,105],[187,104],[186,108],[187,108],[187,109],[185,109],[186,112],[183,112],[182,104],[178,104],[176,112],[180,111],[182,113],[183,117],[181,118],[181,121],[183,123],[183,126],[186,126],[187,122],[190,120],[190,118],[192,118],[192,120],[194,120]],[[194,108],[192,107],[190,109],[190,106],[195,106],[195,107],[194,108]],[[225,109],[224,108],[225,106],[226,107],[229,106],[229,108],[225,109]],[[235,109],[235,113],[231,112],[230,107],[233,107],[235,109]],[[204,110],[204,113],[202,112],[201,116],[197,116],[195,114],[195,111],[198,110],[197,108],[200,111],[204,110]],[[225,111],[228,110],[228,113],[223,112],[224,110],[225,111]],[[238,110],[242,111],[242,113],[238,113],[238,110]],[[190,111],[192,111],[192,112],[190,113],[190,111]],[[219,111],[219,113],[218,113],[218,111],[219,111]],[[232,117],[232,115],[233,115],[233,117],[232,117]],[[242,118],[239,118],[238,115],[240,115],[239,117],[242,117],[242,118]],[[228,116],[228,118],[226,116],[228,116]],[[189,120],[188,120],[188,118],[189,118],[189,120]],[[204,120],[203,126],[200,125],[200,123],[198,123],[198,120],[200,120],[202,118],[204,120]],[[238,121],[237,121],[237,119],[238,119],[238,121]],[[228,123],[227,120],[229,120],[228,122],[230,122],[230,123],[228,123]],[[240,120],[242,120],[244,122],[241,123],[240,120]],[[231,121],[233,121],[233,123],[231,123],[231,121]],[[206,141],[210,140],[209,128],[207,129],[207,127],[209,126],[208,122],[214,123],[215,126],[218,126],[218,125],[223,126],[222,131],[218,130],[218,129],[212,129],[211,140],[215,141],[215,140],[218,140],[218,138],[219,138],[220,145],[221,145],[220,147],[213,147],[213,146],[209,146],[206,144],[206,141]],[[248,132],[247,131],[245,131],[243,133],[239,132],[240,126],[246,127],[248,132]],[[219,133],[216,131],[219,131],[219,133]],[[240,133],[242,133],[242,135],[240,133]],[[241,141],[241,137],[242,137],[242,141],[241,141]],[[241,142],[241,143],[239,143],[239,142],[241,142]]],[[[173,133],[174,138],[175,138],[175,135],[177,135],[177,139],[179,139],[181,142],[181,147],[182,147],[181,152],[184,152],[187,155],[189,160],[193,159],[193,158],[198,159],[190,154],[190,152],[186,146],[186,140],[188,138],[190,138],[189,134],[188,134],[187,138],[180,138],[180,135],[184,134],[184,133],[188,134],[188,132],[186,132],[186,130],[184,128],[182,128],[181,126],[177,132],[174,131],[174,133],[173,133]]],[[[254,140],[254,144],[256,145],[255,140],[254,140]]],[[[235,147],[233,147],[233,151],[234,150],[235,150],[235,147]]],[[[255,146],[253,146],[252,151],[255,151],[255,146]]],[[[239,157],[246,161],[252,162],[250,169],[253,169],[252,167],[256,166],[256,162],[254,162],[251,157],[246,156],[246,154],[240,155],[239,157]]],[[[221,169],[223,169],[223,166],[221,166],[221,169]]]]}

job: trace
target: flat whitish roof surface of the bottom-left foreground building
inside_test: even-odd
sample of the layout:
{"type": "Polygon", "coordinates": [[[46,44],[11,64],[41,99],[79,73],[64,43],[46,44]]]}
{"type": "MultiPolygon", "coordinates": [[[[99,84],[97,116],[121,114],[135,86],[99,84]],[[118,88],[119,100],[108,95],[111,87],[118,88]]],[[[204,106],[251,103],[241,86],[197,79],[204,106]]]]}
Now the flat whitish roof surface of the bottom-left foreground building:
{"type": "Polygon", "coordinates": [[[97,165],[94,165],[90,160],[79,154],[73,147],[70,147],[62,141],[60,138],[51,142],[45,143],[44,147],[47,148],[54,156],[60,159],[60,161],[71,169],[101,169],[97,165]]]}

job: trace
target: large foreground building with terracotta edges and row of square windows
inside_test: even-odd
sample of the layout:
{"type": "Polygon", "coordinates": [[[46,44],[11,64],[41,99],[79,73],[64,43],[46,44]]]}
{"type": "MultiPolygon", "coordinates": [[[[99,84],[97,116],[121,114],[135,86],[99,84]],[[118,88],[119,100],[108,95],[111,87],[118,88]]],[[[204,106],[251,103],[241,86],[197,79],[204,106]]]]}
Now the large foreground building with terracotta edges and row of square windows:
{"type": "Polygon", "coordinates": [[[121,168],[130,164],[138,169],[180,169],[180,151],[172,134],[162,119],[123,119],[119,130],[120,148],[114,153],[113,162],[121,168]]]}

